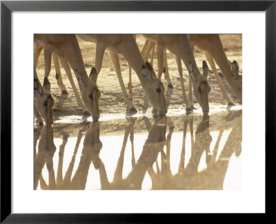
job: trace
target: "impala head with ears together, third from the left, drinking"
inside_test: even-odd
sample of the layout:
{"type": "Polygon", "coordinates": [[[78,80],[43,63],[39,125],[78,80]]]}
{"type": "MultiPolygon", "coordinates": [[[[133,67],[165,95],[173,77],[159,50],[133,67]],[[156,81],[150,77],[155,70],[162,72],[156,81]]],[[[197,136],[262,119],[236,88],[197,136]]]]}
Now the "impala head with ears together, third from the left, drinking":
{"type": "Polygon", "coordinates": [[[165,115],[167,113],[167,106],[165,88],[162,82],[156,77],[155,71],[148,62],[146,62],[146,66],[142,66],[142,74],[148,80],[148,82],[144,84],[144,90],[146,91],[146,95],[153,109],[157,111],[159,115],[165,115]]]}

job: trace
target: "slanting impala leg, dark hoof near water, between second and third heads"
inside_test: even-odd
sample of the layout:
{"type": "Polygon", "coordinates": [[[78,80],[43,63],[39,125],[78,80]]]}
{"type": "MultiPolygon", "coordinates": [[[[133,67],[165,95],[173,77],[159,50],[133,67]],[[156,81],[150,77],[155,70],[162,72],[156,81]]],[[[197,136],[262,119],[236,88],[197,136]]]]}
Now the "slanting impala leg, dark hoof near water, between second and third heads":
{"type": "MultiPolygon", "coordinates": [[[[120,68],[120,64],[119,64],[119,57],[117,54],[109,52],[110,55],[110,59],[112,61],[112,64],[115,68],[115,72],[117,74],[118,80],[119,80],[119,84],[121,86],[121,91],[123,93],[124,96],[124,101],[126,102],[126,104],[128,105],[128,109],[131,112],[137,112],[137,110],[135,109],[135,106],[133,105],[133,103],[128,99],[128,94],[126,93],[126,87],[124,85],[124,80],[121,77],[121,68],[120,68]]],[[[96,68],[97,69],[97,68],[96,68]]]]}

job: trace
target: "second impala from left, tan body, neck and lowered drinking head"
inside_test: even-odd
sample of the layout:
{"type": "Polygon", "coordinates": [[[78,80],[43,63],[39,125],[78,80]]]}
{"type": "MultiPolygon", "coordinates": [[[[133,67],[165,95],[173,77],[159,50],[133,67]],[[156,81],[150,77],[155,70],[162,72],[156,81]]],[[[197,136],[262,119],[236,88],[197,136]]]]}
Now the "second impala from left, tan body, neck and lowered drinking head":
{"type": "MultiPolygon", "coordinates": [[[[45,75],[44,82],[47,82],[50,74],[51,56],[55,53],[59,56],[63,68],[68,68],[67,63],[70,64],[72,70],[75,72],[79,88],[81,90],[81,97],[83,103],[86,105],[89,113],[92,115],[93,121],[99,120],[99,91],[96,80],[97,72],[92,69],[90,77],[86,73],[83,65],[81,50],[75,35],[34,35],[34,41],[44,48],[45,61],[45,75]]],[[[67,69],[66,73],[70,72],[67,69]]]]}

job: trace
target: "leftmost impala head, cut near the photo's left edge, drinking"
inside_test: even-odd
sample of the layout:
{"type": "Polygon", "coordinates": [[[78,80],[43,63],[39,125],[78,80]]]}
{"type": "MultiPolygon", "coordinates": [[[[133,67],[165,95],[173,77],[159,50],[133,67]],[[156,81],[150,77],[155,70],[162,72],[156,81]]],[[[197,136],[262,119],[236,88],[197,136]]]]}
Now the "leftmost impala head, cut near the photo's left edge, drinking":
{"type": "Polygon", "coordinates": [[[50,82],[48,79],[44,81],[43,87],[39,80],[34,78],[34,99],[37,104],[37,110],[43,118],[47,126],[51,126],[54,122],[52,118],[52,109],[55,105],[55,100],[50,93],[50,82]]]}

